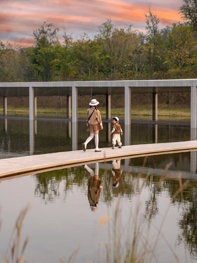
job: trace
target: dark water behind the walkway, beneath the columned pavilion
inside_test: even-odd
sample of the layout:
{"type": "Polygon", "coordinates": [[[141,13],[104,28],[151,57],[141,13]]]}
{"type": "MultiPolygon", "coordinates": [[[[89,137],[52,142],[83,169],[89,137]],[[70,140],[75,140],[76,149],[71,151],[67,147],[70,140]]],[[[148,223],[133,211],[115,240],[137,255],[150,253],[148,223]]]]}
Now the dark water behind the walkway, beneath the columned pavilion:
{"type": "MultiPolygon", "coordinates": [[[[133,123],[123,129],[123,145],[135,145],[155,142],[179,142],[190,140],[190,124],[184,123],[133,123]]],[[[103,131],[99,132],[99,147],[111,147],[111,123],[103,122],[103,131]]],[[[70,150],[80,150],[89,136],[86,122],[73,124],[68,120],[38,119],[29,122],[22,118],[0,119],[0,159],[46,154],[70,150]]],[[[94,140],[88,144],[94,148],[94,140]]]]}

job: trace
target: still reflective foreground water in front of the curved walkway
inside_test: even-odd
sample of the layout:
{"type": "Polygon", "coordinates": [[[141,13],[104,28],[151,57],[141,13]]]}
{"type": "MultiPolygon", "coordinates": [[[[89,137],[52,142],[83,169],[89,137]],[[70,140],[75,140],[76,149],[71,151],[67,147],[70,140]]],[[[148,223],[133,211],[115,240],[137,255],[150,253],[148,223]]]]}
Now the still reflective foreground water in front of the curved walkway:
{"type": "MultiPolygon", "coordinates": [[[[22,240],[29,237],[25,250],[28,262],[59,262],[59,257],[67,262],[77,248],[73,262],[103,262],[105,244],[113,244],[117,236],[123,257],[127,234],[131,242],[136,222],[149,249],[154,248],[162,225],[151,262],[177,262],[172,250],[180,262],[197,262],[197,174],[196,167],[191,171],[192,155],[196,152],[149,156],[143,168],[144,158],[138,157],[1,180],[0,262],[16,217],[27,203],[30,210],[23,223],[22,240]],[[170,162],[167,177],[160,182],[170,162]],[[182,183],[188,181],[189,185],[173,198],[180,172],[182,183]],[[104,224],[101,218],[107,216],[111,219],[104,224]]],[[[142,248],[139,242],[139,250],[142,248]]]]}

